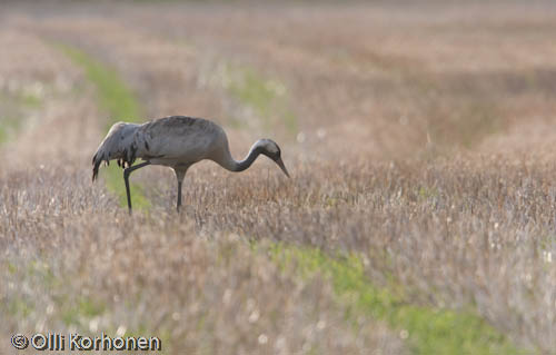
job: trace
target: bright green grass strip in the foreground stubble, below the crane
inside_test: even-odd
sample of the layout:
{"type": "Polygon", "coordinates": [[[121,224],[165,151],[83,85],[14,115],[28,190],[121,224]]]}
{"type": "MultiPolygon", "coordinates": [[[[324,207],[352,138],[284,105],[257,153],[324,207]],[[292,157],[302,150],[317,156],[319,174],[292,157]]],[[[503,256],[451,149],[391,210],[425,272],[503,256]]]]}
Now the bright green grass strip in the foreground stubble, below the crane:
{"type": "Polygon", "coordinates": [[[304,277],[320,274],[329,279],[339,300],[348,305],[346,316],[356,322],[361,313],[388,322],[414,354],[522,354],[496,329],[473,312],[419,307],[368,280],[355,254],[332,258],[318,249],[276,244],[270,255],[285,269],[304,277]]]}

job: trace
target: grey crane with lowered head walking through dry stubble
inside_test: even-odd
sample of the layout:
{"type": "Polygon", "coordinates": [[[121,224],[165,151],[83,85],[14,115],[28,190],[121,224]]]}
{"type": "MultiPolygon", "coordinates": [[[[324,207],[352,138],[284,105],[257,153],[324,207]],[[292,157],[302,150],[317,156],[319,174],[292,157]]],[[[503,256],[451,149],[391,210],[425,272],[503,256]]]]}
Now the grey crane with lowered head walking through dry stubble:
{"type": "Polygon", "coordinates": [[[270,139],[257,140],[247,157],[237,161],[231,157],[228,138],[217,124],[202,118],[169,116],[137,125],[115,124],[92,157],[92,180],[98,176],[102,161],[106,165],[116,159],[123,168],[123,180],[131,213],[129,176],[148,165],[168,166],[178,179],[178,211],[181,206],[181,185],[187,169],[200,160],[216,161],[230,171],[244,171],[259,155],[272,159],[289,177],[280,157],[280,147],[270,139]],[[143,162],[133,165],[137,158],[143,162]]]}

